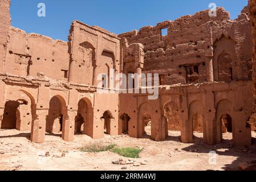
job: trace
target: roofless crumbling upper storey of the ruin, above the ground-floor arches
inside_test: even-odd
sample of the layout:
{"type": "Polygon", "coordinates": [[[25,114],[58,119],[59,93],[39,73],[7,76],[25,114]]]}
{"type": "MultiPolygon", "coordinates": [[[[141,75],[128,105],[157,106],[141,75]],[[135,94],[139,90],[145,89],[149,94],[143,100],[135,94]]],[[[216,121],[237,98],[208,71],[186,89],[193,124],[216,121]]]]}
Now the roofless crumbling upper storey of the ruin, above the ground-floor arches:
{"type": "Polygon", "coordinates": [[[218,8],[216,17],[205,10],[119,36],[75,20],[69,42],[63,42],[10,27],[10,0],[0,3],[4,73],[95,86],[101,73],[111,82],[111,71],[160,73],[161,85],[251,79],[253,42],[247,7],[235,20],[218,8]]]}

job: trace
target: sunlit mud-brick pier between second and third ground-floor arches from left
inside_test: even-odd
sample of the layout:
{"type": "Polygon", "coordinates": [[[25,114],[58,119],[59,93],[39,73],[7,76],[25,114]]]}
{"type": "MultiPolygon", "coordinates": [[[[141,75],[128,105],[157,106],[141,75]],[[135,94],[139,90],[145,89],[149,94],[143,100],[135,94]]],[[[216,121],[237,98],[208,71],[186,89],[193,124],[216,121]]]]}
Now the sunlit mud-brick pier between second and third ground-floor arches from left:
{"type": "MultiPolygon", "coordinates": [[[[65,109],[67,110],[67,107],[63,107],[63,110],[65,109]]],[[[74,140],[74,133],[75,133],[76,113],[72,111],[67,111],[63,113],[67,113],[67,114],[66,114],[66,117],[63,118],[62,138],[66,142],[72,142],[74,140]]]]}

